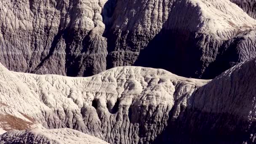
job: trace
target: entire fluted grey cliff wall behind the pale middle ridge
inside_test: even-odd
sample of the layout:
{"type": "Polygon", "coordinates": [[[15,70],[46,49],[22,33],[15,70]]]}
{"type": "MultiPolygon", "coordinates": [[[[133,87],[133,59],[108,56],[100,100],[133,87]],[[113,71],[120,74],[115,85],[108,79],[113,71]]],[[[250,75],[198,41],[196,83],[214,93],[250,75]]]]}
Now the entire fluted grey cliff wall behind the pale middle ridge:
{"type": "Polygon", "coordinates": [[[255,25],[229,0],[2,0],[0,62],[36,74],[136,65],[213,78],[256,56],[255,25]]]}

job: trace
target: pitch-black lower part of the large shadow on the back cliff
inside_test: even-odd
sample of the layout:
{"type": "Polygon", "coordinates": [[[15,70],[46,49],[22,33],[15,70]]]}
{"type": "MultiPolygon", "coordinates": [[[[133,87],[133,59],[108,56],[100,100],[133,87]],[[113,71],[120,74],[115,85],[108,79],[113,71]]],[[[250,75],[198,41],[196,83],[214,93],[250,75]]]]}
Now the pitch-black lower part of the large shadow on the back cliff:
{"type": "Polygon", "coordinates": [[[194,35],[182,29],[162,29],[141,51],[135,66],[168,70],[176,75],[198,78],[203,62],[194,35]],[[183,40],[182,37],[189,37],[183,40]]]}

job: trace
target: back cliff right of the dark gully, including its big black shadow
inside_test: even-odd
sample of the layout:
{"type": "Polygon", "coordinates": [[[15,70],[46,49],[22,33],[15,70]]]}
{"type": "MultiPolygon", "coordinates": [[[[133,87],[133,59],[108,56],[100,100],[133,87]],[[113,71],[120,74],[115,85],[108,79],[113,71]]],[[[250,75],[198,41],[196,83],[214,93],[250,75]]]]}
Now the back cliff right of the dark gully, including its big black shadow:
{"type": "Polygon", "coordinates": [[[112,16],[109,67],[121,66],[132,55],[130,64],[208,79],[256,56],[255,20],[229,0],[130,3],[118,1],[122,8],[112,16]],[[127,11],[120,14],[121,9],[127,11]]]}

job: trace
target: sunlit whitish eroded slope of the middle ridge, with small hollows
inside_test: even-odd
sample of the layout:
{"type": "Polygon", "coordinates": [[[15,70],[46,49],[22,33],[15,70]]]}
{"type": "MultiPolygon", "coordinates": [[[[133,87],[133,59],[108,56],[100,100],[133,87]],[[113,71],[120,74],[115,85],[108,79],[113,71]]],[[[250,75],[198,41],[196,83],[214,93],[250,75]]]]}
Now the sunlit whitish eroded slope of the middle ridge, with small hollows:
{"type": "Polygon", "coordinates": [[[185,106],[184,96],[207,82],[143,67],[117,67],[83,78],[11,72],[1,65],[0,128],[68,127],[109,143],[149,141],[163,131],[173,105],[185,106]],[[155,108],[159,112],[152,118],[163,126],[152,123],[146,129],[158,132],[140,136],[140,125],[155,108]]]}

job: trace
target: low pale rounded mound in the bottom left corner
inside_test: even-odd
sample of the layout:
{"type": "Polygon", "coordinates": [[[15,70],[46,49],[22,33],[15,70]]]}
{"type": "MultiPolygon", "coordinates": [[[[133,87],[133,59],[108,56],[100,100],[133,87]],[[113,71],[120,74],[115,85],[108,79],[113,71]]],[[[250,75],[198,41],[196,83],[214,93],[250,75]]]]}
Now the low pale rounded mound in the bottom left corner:
{"type": "Polygon", "coordinates": [[[108,144],[96,137],[68,128],[11,131],[0,135],[0,144],[108,144]]]}

